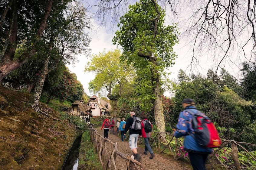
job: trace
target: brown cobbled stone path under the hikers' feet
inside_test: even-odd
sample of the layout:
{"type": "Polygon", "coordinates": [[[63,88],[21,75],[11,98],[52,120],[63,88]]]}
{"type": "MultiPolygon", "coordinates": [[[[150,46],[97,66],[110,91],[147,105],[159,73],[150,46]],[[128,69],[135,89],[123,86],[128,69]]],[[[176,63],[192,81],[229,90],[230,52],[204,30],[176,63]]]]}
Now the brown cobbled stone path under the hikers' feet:
{"type": "MultiPolygon", "coordinates": [[[[99,134],[103,136],[103,130],[100,130],[100,128],[96,128],[99,134]]],[[[115,129],[117,131],[117,129],[115,129]]],[[[128,155],[132,155],[132,151],[129,148],[128,141],[122,142],[121,138],[117,136],[117,133],[110,134],[108,133],[108,139],[114,143],[117,142],[118,150],[120,152],[123,152],[128,155]]],[[[109,147],[109,150],[113,150],[113,145],[108,144],[107,147],[109,147]]],[[[185,163],[176,162],[172,159],[168,159],[161,154],[156,154],[153,159],[149,159],[150,154],[148,155],[143,154],[144,147],[138,147],[138,153],[142,156],[141,162],[144,167],[148,170],[192,170],[190,165],[187,165],[185,163]]],[[[120,156],[117,156],[116,159],[116,166],[118,170],[126,170],[126,162],[125,159],[121,158],[120,156]]]]}

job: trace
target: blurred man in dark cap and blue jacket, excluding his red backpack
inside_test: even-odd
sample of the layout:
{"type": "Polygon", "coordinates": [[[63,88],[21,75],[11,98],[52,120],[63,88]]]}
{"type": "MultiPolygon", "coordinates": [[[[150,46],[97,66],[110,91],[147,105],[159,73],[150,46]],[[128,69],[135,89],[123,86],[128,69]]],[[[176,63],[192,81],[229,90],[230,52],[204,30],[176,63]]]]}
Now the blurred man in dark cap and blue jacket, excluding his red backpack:
{"type": "MultiPolygon", "coordinates": [[[[195,101],[190,98],[185,98],[182,101],[182,107],[184,109],[190,109],[193,113],[197,113],[195,107],[195,101]]],[[[179,113],[178,123],[176,129],[174,129],[173,135],[176,138],[185,136],[184,150],[189,153],[189,159],[194,170],[206,170],[205,163],[207,161],[208,154],[212,152],[211,148],[206,148],[199,145],[190,133],[193,133],[192,128],[192,115],[189,112],[182,111],[179,113]]]]}

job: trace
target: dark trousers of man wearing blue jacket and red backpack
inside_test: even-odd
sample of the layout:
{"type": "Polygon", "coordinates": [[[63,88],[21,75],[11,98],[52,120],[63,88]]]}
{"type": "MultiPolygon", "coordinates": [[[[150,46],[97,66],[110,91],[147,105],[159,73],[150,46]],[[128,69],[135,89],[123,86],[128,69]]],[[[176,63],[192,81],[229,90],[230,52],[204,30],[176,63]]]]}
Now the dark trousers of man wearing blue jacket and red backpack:
{"type": "Polygon", "coordinates": [[[200,154],[189,152],[189,159],[193,170],[206,170],[205,163],[207,161],[208,154],[200,154]]]}

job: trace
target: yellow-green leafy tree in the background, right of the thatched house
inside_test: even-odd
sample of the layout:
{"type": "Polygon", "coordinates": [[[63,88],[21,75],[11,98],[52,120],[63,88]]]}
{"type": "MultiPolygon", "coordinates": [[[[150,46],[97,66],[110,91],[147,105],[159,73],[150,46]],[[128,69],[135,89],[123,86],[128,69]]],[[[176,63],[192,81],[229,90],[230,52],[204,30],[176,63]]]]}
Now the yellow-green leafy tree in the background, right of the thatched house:
{"type": "Polygon", "coordinates": [[[107,90],[107,97],[114,102],[114,117],[117,117],[117,102],[122,96],[127,84],[133,81],[135,75],[131,66],[120,63],[120,50],[115,49],[98,55],[92,55],[91,61],[85,66],[85,72],[95,73],[95,78],[89,83],[89,90],[97,93],[107,90]]]}

